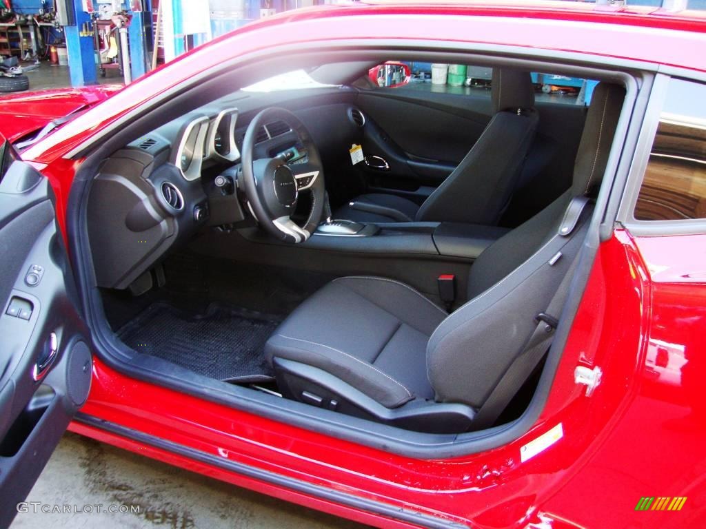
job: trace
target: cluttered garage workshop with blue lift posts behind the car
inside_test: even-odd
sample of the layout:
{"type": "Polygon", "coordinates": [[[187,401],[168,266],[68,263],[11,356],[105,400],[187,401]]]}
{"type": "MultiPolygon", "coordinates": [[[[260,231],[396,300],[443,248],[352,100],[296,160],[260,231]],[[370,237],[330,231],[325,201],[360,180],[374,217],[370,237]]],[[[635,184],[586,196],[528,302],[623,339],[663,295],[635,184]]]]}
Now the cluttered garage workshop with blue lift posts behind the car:
{"type": "MultiPolygon", "coordinates": [[[[130,83],[252,20],[337,3],[349,0],[0,0],[0,55],[20,60],[30,90],[130,83]]],[[[609,3],[621,2],[597,0],[609,3]]],[[[706,0],[626,3],[706,9],[706,0]]]]}

